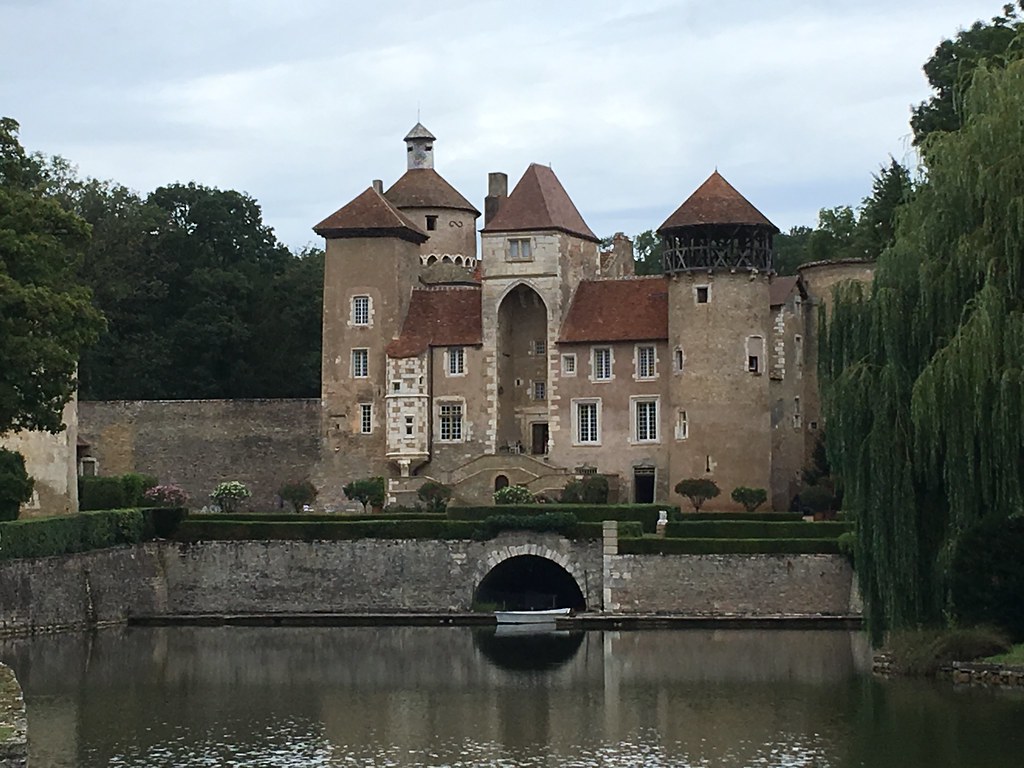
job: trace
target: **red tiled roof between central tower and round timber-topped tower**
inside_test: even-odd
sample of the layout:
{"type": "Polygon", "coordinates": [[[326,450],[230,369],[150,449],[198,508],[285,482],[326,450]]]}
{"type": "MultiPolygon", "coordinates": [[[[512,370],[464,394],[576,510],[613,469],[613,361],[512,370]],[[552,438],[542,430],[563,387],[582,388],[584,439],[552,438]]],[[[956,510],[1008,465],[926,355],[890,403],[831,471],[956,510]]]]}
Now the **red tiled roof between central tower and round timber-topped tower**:
{"type": "Polygon", "coordinates": [[[669,282],[664,276],[583,281],[562,325],[561,342],[669,338],[669,282]]]}

